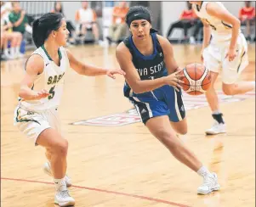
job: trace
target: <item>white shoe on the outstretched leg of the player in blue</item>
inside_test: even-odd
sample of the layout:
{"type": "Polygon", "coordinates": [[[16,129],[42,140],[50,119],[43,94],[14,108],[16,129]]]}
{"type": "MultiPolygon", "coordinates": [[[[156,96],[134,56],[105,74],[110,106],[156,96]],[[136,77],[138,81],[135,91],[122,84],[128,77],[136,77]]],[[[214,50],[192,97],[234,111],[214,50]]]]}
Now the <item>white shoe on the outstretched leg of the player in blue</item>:
{"type": "Polygon", "coordinates": [[[208,176],[203,177],[202,186],[197,188],[197,193],[207,195],[213,191],[219,190],[218,176],[215,172],[212,172],[208,176]]]}

